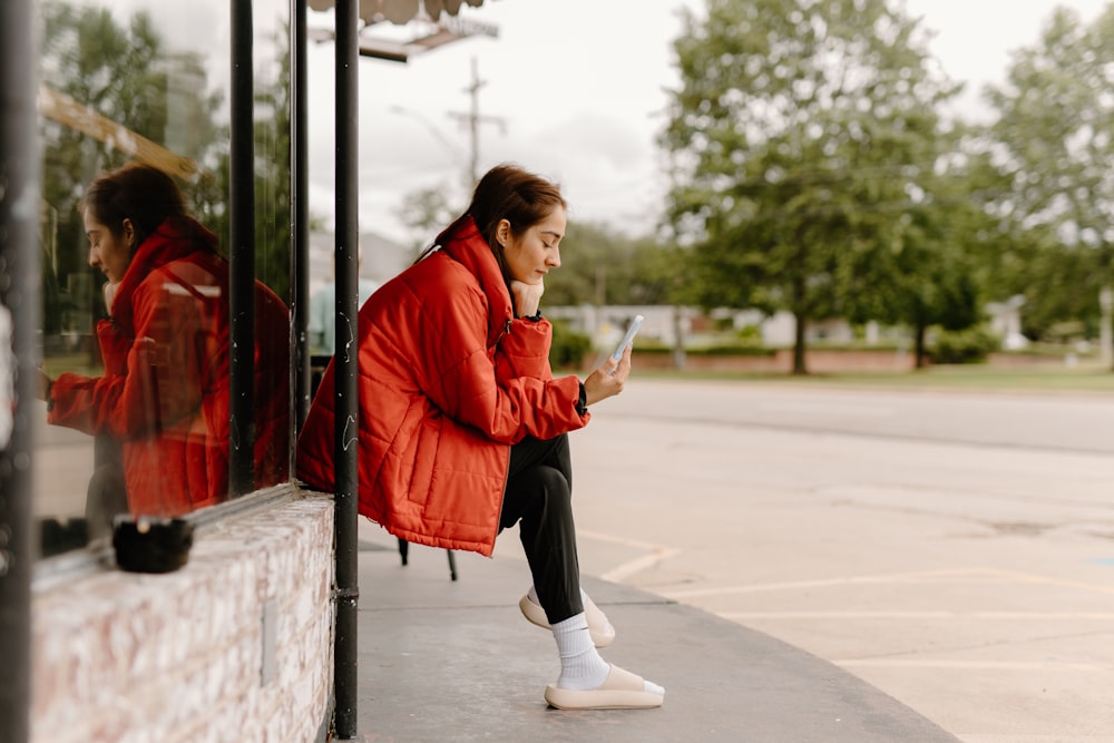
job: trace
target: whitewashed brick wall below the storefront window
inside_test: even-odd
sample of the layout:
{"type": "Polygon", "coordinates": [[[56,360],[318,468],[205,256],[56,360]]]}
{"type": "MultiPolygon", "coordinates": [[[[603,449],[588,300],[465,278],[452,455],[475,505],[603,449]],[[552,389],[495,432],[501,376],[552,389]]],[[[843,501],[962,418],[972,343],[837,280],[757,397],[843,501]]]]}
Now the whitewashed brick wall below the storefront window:
{"type": "Polygon", "coordinates": [[[31,740],[319,740],[333,677],[333,501],[197,529],[166,575],[105,569],[36,589],[31,740]]]}

